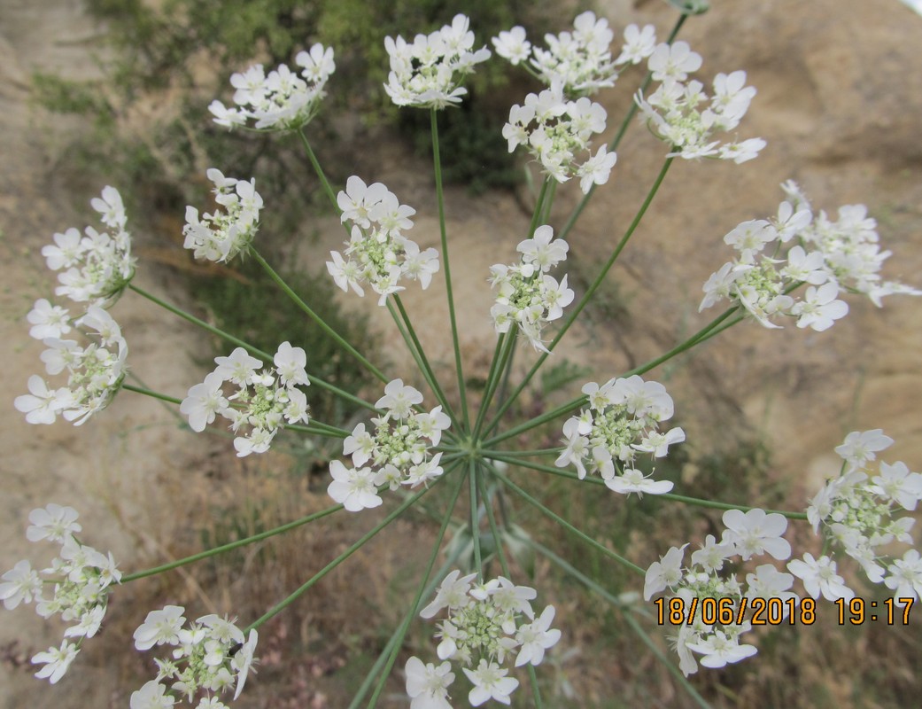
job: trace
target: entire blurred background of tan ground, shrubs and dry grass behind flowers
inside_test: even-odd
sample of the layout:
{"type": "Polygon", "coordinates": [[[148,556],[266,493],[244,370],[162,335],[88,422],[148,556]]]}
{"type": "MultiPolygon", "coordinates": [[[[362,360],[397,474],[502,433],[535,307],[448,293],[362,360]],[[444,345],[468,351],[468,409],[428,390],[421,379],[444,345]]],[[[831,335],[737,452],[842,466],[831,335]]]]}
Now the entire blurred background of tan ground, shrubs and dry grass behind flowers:
{"type": "MultiPolygon", "coordinates": [[[[762,137],[755,161],[674,164],[582,325],[555,351],[519,415],[535,415],[681,342],[714,317],[697,312],[701,287],[728,258],[723,235],[737,223],[773,216],[795,179],[815,210],[863,203],[892,249],[887,278],[922,287],[922,17],[898,0],[714,0],[690,18],[680,39],[703,55],[699,78],[745,69],[758,90],[740,137],[762,137]]],[[[412,369],[389,319],[373,299],[333,294],[324,261],[342,240],[310,164],[295,138],[228,133],[214,126],[207,104],[229,102],[228,78],[254,62],[276,66],[313,42],[336,51],[337,73],[325,108],[308,128],[334,185],[350,174],[381,181],[417,210],[414,238],[436,246],[428,116],[387,105],[381,84],[382,38],[410,36],[472,19],[479,43],[514,24],[538,42],[594,9],[616,33],[652,23],[665,39],[678,15],[663,0],[486,2],[394,0],[0,0],[0,247],[4,288],[0,338],[6,342],[0,407],[0,569],[41,551],[25,540],[31,509],[57,502],[81,513],[81,540],[112,549],[120,568],[135,571],[300,517],[328,505],[326,466],[337,448],[297,437],[244,460],[231,439],[192,434],[176,407],[122,392],[84,427],[59,421],[28,425],[13,409],[30,374],[41,373],[41,344],[30,341],[26,314],[53,293],[41,246],[55,232],[96,221],[89,199],[105,185],[121,191],[144,288],[266,349],[300,343],[309,369],[349,391],[375,386],[299,318],[247,264],[195,263],[182,248],[187,204],[207,204],[208,167],[255,176],[266,200],[259,247],[293,287],[337,329],[363,342],[394,377],[412,369]]],[[[626,71],[596,99],[613,135],[643,75],[626,71]]],[[[466,374],[476,389],[495,343],[488,317],[489,267],[514,258],[534,194],[526,171],[509,156],[502,125],[512,103],[537,89],[525,73],[494,58],[472,78],[469,100],[443,115],[443,161],[455,298],[466,374]]],[[[570,282],[577,294],[595,277],[658,172],[665,146],[636,123],[621,143],[609,184],[597,194],[568,241],[570,282]]],[[[581,194],[562,186],[551,214],[559,229],[581,194]]],[[[452,361],[443,294],[436,279],[405,302],[444,381],[452,361]]],[[[833,448],[852,430],[882,428],[896,440],[884,459],[922,464],[922,310],[892,296],[882,309],[849,299],[850,313],[832,330],[762,330],[743,323],[691,355],[655,369],[676,400],[676,422],[688,442],[663,476],[677,492],[727,502],[801,510],[838,470],[833,448]]],[[[129,343],[135,383],[183,397],[228,347],[134,294],[112,309],[129,343]]],[[[525,370],[534,355],[520,348],[525,370]]],[[[313,415],[351,427],[354,412],[318,392],[313,415]]],[[[556,445],[559,428],[523,441],[556,445]]],[[[534,445],[532,445],[534,444],[534,445]]],[[[537,474],[532,474],[537,475],[537,474]]],[[[516,479],[524,479],[516,478],[516,479]]],[[[531,478],[529,478],[531,479],[531,478]]],[[[714,533],[717,514],[644,499],[597,498],[569,481],[534,480],[536,494],[561,514],[585,520],[597,538],[641,566],[668,547],[714,533]],[[668,520],[668,523],[666,522],[668,520]]],[[[595,489],[595,488],[594,488],[595,489]]],[[[437,500],[436,500],[437,501],[437,500]]],[[[433,502],[433,507],[436,503],[433,502]]],[[[436,507],[436,509],[438,509],[436,507]]],[[[596,577],[613,595],[640,590],[637,578],[527,512],[520,523],[543,544],[596,577]]],[[[31,677],[29,658],[57,644],[61,629],[30,608],[3,613],[0,706],[125,706],[153,676],[148,655],[135,653],[131,632],[149,609],[167,603],[239,616],[260,615],[348,547],[380,516],[336,517],[227,558],[133,583],[113,596],[104,632],[86,644],[65,679],[51,687],[31,677]]],[[[418,571],[417,548],[432,535],[423,515],[408,516],[330,574],[261,630],[262,664],[235,705],[341,707],[404,612],[418,571]]],[[[806,524],[792,526],[795,548],[817,551],[806,524]]],[[[420,546],[422,545],[422,546],[420,546]]],[[[518,559],[519,583],[539,588],[559,608],[563,639],[541,667],[548,706],[691,706],[691,700],[621,619],[540,559],[518,559]]],[[[858,595],[871,587],[849,569],[858,595]],[[863,584],[864,583],[864,584],[863,584]]],[[[846,575],[848,575],[846,574],[846,575]]],[[[885,590],[885,589],[884,589],[885,590]]],[[[691,679],[718,707],[904,707],[916,705],[922,665],[922,611],[909,626],[868,622],[840,628],[833,607],[810,628],[759,634],[750,661],[691,679]]],[[[666,633],[646,630],[668,653],[666,633]]],[[[422,623],[407,655],[434,657],[422,623]]],[[[671,656],[671,655],[670,655],[671,656]]],[[[402,667],[401,656],[397,667],[402,667]]],[[[408,706],[399,672],[382,706],[408,706]]],[[[526,696],[518,697],[528,705],[526,696]]],[[[461,705],[463,697],[455,697],[461,705]]]]}

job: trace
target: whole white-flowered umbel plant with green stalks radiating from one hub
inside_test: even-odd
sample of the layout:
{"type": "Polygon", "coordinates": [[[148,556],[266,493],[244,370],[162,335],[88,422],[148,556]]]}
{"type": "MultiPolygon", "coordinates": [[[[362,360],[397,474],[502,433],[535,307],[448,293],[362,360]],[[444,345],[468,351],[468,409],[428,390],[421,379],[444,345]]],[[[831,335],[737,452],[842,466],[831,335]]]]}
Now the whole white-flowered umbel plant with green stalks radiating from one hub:
{"type": "MultiPolygon", "coordinates": [[[[514,522],[517,501],[632,574],[638,587],[643,580],[644,600],[650,604],[647,610],[658,610],[659,624],[671,625],[674,631],[677,655],[673,659],[658,656],[670,667],[678,661],[684,675],[698,671],[699,665],[724,667],[755,655],[760,604],[776,607],[782,617],[808,623],[820,595],[833,602],[852,597],[855,592],[838,574],[838,562],[845,561],[843,552],[857,560],[869,582],[882,583],[892,592],[901,607],[911,607],[918,600],[922,561],[917,549],[910,547],[898,557],[888,545],[893,541],[914,543],[909,534],[913,519],[904,512],[914,511],[922,499],[922,475],[904,463],[881,463],[876,473],[872,470],[876,453],[892,442],[880,430],[856,432],[845,439],[836,449],[845,461],[842,474],[822,487],[806,511],[765,511],[680,495],[672,492],[676,482],[656,473],[656,465],[668,459],[672,447],[682,443],[686,434],[681,427],[668,424],[674,415],[673,400],[664,384],[643,378],[648,371],[747,319],[777,329],[784,318],[796,318],[798,327],[822,332],[847,313],[840,297],[865,294],[881,305],[884,295],[920,294],[911,286],[883,280],[881,266],[890,252],[881,250],[877,225],[863,206],[843,207],[833,219],[813,210],[800,188],[786,183],[786,199],[774,217],[740,223],[724,237],[735,255],[703,285],[701,304],[704,309],[722,303],[727,306],[722,314],[649,362],[613,372],[601,384],[585,382],[581,394],[550,411],[520,421],[513,418],[523,392],[606,280],[672,162],[677,157],[744,162],[755,158],[764,146],[761,138],[735,141],[734,137],[729,142],[714,138],[715,131],[736,131],[755,89],[745,85],[742,71],[717,74],[710,98],[702,84],[689,79],[703,59],[687,43],[676,41],[676,36],[690,14],[706,7],[701,2],[677,0],[673,4],[683,12],[666,42],[656,42],[652,26],[630,26],[623,31],[621,48],[613,50],[614,30],[607,20],[592,13],[576,18],[572,31],[546,37],[546,49],[528,42],[525,30],[518,27],[492,40],[496,54],[514,66],[524,66],[548,88],[514,105],[503,130],[511,150],[518,145],[527,147],[540,163],[544,179],[527,231],[517,237],[497,234],[498,239],[507,240],[509,253],[516,238],[520,239],[518,262],[497,264],[482,274],[483,282],[491,283],[494,300],[491,310],[481,317],[491,318],[496,344],[479,396],[469,386],[460,346],[439,148],[439,112],[464,100],[464,78],[490,55],[485,48],[476,49],[478,42],[469,30],[468,18],[462,15],[441,30],[416,35],[411,42],[396,37],[385,43],[391,74],[384,91],[398,106],[422,108],[431,114],[439,248],[421,250],[410,240],[407,234],[415,210],[400,204],[383,184],[368,184],[359,175],[351,175],[344,188],[337,190],[327,179],[305,127],[320,110],[325,82],[335,69],[332,49],[316,44],[309,53],[298,54],[295,62],[302,67],[300,76],[285,66],[266,75],[259,65],[234,74],[235,107],[227,108],[218,101],[210,107],[219,126],[294,134],[301,142],[348,237],[344,251],[331,252],[332,260],[327,262],[329,285],[358,295],[364,287],[371,287],[378,294],[379,305],[394,319],[418,367],[412,383],[389,376],[372,363],[357,343],[348,342],[327,324],[262,256],[257,231],[264,204],[255,191],[254,177],[225,177],[219,168],[209,169],[207,176],[219,209],[200,216],[195,207],[187,208],[185,246],[195,258],[221,262],[238,256],[252,258],[278,284],[284,297],[337,342],[344,355],[381,382],[383,395],[381,390],[371,398],[369,392],[343,391],[312,374],[311,353],[296,344],[281,342],[274,355],[261,351],[131,282],[130,238],[124,231],[121,198],[112,187],[92,202],[102,215],[105,234],[91,228],[84,236],[76,229],[55,234],[54,244],[42,254],[49,268],[63,270],[56,294],[68,298],[71,305],[41,299],[28,320],[31,335],[48,348],[41,358],[49,374],[66,370],[69,379],[65,387],[53,389],[44,379],[31,378],[30,394],[15,402],[27,421],[51,424],[62,415],[79,424],[98,414],[119,391],[129,391],[178,406],[195,432],[207,427],[230,430],[239,456],[265,453],[279,432],[288,429],[286,435],[325,437],[337,447],[341,443],[342,460],[329,464],[327,492],[333,504],[327,509],[223,547],[131,573],[117,570],[111,555],[104,556],[77,539],[81,527],[75,511],[57,504],[33,511],[28,537],[60,544],[60,556],[41,572],[33,570],[30,561],[19,561],[3,574],[0,599],[9,609],[35,602],[40,615],[60,614],[71,623],[59,648],[33,658],[33,663],[42,666],[39,677],[52,682],[63,679],[81,643],[99,631],[109,596],[126,593],[125,584],[266,540],[342,510],[363,513],[384,507],[386,499],[392,509],[383,518],[379,516],[369,532],[245,627],[214,614],[190,621],[184,607],[172,605],[151,610],[140,622],[134,636],[136,649],[161,650],[162,655],[156,661],[155,679],[131,695],[133,709],[183,701],[198,707],[225,706],[231,691],[234,699],[241,693],[256,661],[258,629],[372,536],[417,507],[433,487],[447,487],[446,496],[438,498],[441,509],[435,510],[435,503],[427,505],[427,511],[440,521],[435,543],[415,594],[404,603],[403,621],[351,706],[364,702],[369,692],[368,705],[375,705],[396,665],[404,668],[411,709],[510,704],[514,697],[523,696],[520,686],[524,683],[535,705],[542,705],[542,691],[546,690],[535,667],[555,653],[558,645],[568,643],[568,631],[554,627],[558,625],[554,606],[544,605],[538,613],[541,606],[532,605],[538,596],[553,597],[554,589],[523,584],[527,574],[527,564],[519,559],[523,548],[546,557],[616,603],[644,643],[655,643],[641,627],[641,619],[649,618],[650,613],[610,595],[534,541],[514,522]],[[620,74],[629,70],[637,75],[631,88],[636,101],[615,137],[591,153],[589,138],[606,131],[608,116],[588,96],[611,88],[616,78],[627,82],[620,74]],[[653,82],[659,85],[647,93],[653,82]],[[638,113],[641,122],[667,143],[663,166],[596,278],[578,294],[567,275],[552,273],[568,256],[566,239],[586,203],[598,187],[610,181],[618,145],[637,123],[638,113]],[[590,157],[582,157],[584,154],[590,157]],[[555,189],[573,176],[580,179],[582,197],[555,233],[549,219],[555,189]],[[436,278],[443,279],[447,296],[455,375],[451,384],[440,379],[432,367],[400,297],[408,281],[419,281],[425,289],[436,278]],[[204,381],[189,378],[182,399],[125,383],[127,346],[104,308],[126,290],[218,335],[235,349],[216,358],[217,367],[204,381]],[[71,311],[75,304],[77,314],[71,311]],[[87,333],[93,342],[83,346],[65,339],[77,332],[87,333]],[[534,362],[524,376],[512,366],[514,351],[522,341],[537,351],[529,354],[534,362]],[[426,394],[413,386],[417,383],[425,385],[426,394]],[[354,407],[351,430],[313,417],[305,392],[309,385],[330,391],[354,407]],[[540,427],[550,430],[559,445],[529,449],[524,442],[527,434],[540,427]],[[662,504],[718,509],[723,511],[723,530],[719,539],[706,535],[699,540],[691,553],[691,540],[677,540],[680,546],[669,548],[658,560],[645,559],[641,565],[614,552],[609,540],[594,538],[539,501],[534,482],[539,475],[570,480],[592,494],[600,490],[594,485],[608,487],[628,496],[621,504],[633,504],[632,493],[638,497],[646,493],[656,495],[662,504]],[[389,494],[383,497],[386,488],[389,494]],[[459,504],[463,497],[466,502],[459,504]],[[789,523],[810,523],[822,535],[819,557],[814,556],[817,549],[810,547],[800,559],[789,560],[793,553],[785,537],[789,523]],[[446,543],[449,529],[453,538],[446,543]],[[446,559],[436,570],[442,551],[446,559]],[[786,571],[778,562],[786,562],[786,571]],[[794,590],[795,577],[802,581],[806,595],[794,590]],[[421,623],[418,616],[434,620],[434,648],[404,647],[414,623],[431,632],[433,626],[421,623]],[[408,659],[398,665],[401,655],[408,659]]],[[[605,490],[602,493],[609,495],[605,490]]],[[[427,503],[437,497],[431,496],[427,503]]],[[[684,690],[703,702],[691,684],[682,681],[684,690]]]]}

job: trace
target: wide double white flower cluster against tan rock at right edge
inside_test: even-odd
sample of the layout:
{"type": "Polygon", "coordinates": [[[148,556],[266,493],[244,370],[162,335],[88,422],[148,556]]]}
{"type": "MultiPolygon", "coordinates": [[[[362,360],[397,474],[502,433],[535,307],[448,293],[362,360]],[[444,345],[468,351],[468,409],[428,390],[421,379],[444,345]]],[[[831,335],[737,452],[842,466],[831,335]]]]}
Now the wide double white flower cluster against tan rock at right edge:
{"type": "Polygon", "coordinates": [[[742,222],[724,236],[738,255],[704,283],[699,310],[727,299],[766,328],[780,327],[775,316],[788,316],[797,318],[798,328],[822,331],[848,313],[839,294],[867,294],[877,306],[884,295],[922,294],[881,280],[879,271],[890,252],[881,251],[877,223],[867,217],[864,205],[841,207],[833,222],[823,211],[813,215],[795,183],[782,188],[787,198],[776,218],[742,222]],[[797,299],[790,292],[802,283],[807,289],[797,299]]]}

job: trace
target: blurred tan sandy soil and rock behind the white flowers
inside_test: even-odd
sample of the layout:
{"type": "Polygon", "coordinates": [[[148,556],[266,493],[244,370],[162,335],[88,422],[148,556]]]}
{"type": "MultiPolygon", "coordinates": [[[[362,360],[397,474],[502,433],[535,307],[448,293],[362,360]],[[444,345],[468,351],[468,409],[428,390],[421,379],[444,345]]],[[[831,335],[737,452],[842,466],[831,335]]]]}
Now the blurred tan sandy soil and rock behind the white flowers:
{"type": "MultiPolygon", "coordinates": [[[[602,10],[614,25],[654,22],[661,35],[672,16],[665,4],[608,0],[602,10]]],[[[914,47],[922,45],[922,18],[893,0],[774,0],[770,3],[715,2],[714,12],[691,19],[682,36],[704,55],[703,74],[745,68],[759,95],[743,124],[744,136],[769,142],[759,160],[742,166],[678,162],[656,209],[612,273],[630,318],[600,321],[573,333],[557,357],[586,362],[607,379],[643,362],[701,327],[701,284],[728,258],[722,243],[740,221],[774,214],[778,184],[798,180],[816,206],[833,212],[863,202],[879,219],[881,239],[894,256],[892,278],[922,286],[922,71],[914,47]]],[[[30,427],[12,407],[26,391],[31,373],[41,371],[41,345],[30,342],[25,315],[37,297],[53,287],[39,256],[56,231],[87,223],[86,205],[100,186],[65,182],[59,168],[68,137],[79,126],[30,106],[29,76],[35,69],[65,77],[93,76],[91,58],[99,29],[73,0],[0,3],[0,234],[4,247],[4,289],[0,294],[0,338],[6,342],[2,370],[6,405],[0,427],[3,495],[0,511],[0,568],[34,550],[25,541],[28,512],[49,501],[70,504],[84,517],[89,544],[111,548],[125,568],[162,559],[158,547],[169,537],[164,525],[182,523],[171,514],[170,495],[181,489],[201,442],[183,433],[158,403],[120,396],[87,426],[30,427]]],[[[628,85],[634,79],[623,78],[628,85]]],[[[620,115],[630,91],[606,102],[620,115]]],[[[361,138],[361,136],[360,136],[361,138]]],[[[600,191],[574,231],[573,253],[589,268],[606,258],[659,168],[661,146],[635,129],[620,151],[612,181],[600,191]]],[[[373,174],[419,211],[420,246],[436,246],[437,220],[431,192],[420,174],[425,164],[382,150],[373,174]]],[[[575,202],[561,190],[558,223],[575,202]]],[[[449,195],[455,296],[468,366],[483,367],[493,334],[486,313],[484,282],[491,263],[511,260],[523,238],[527,216],[512,198],[471,202],[460,190],[449,195]]],[[[325,258],[341,238],[335,221],[320,222],[322,243],[313,258],[325,258]]],[[[152,239],[144,224],[132,225],[152,239]]],[[[139,282],[157,294],[183,301],[170,276],[138,270],[139,282]]],[[[422,318],[421,337],[431,358],[449,367],[441,282],[405,300],[422,318]]],[[[369,307],[373,307],[368,304],[369,307]]],[[[776,475],[790,480],[791,499],[805,499],[834,466],[833,447],[853,429],[882,427],[897,440],[891,460],[922,464],[922,396],[918,353],[922,346],[919,302],[892,298],[882,310],[850,301],[845,321],[825,333],[765,331],[740,326],[709,344],[668,376],[677,411],[691,441],[715,435],[715,422],[737,420],[759,432],[774,451],[776,475]]],[[[126,297],[113,314],[131,347],[130,363],[151,389],[182,395],[198,376],[193,356],[205,344],[197,333],[139,298],[126,297]]],[[[396,352],[396,343],[386,347],[396,352]]],[[[532,355],[521,351],[520,363],[532,355]]],[[[391,359],[396,359],[392,355],[391,359]]],[[[704,448],[704,446],[703,446],[704,448]]],[[[688,492],[693,494],[693,489],[688,492]]],[[[728,491],[728,497],[732,491],[728,491]]],[[[56,643],[56,629],[18,610],[6,613],[0,648],[13,661],[0,663],[0,703],[10,709],[124,705],[127,694],[106,653],[120,652],[124,639],[112,635],[88,644],[80,673],[56,687],[15,667],[27,651],[56,643]],[[19,639],[18,645],[10,645],[19,639]],[[94,647],[95,646],[95,647],[94,647]]]]}

